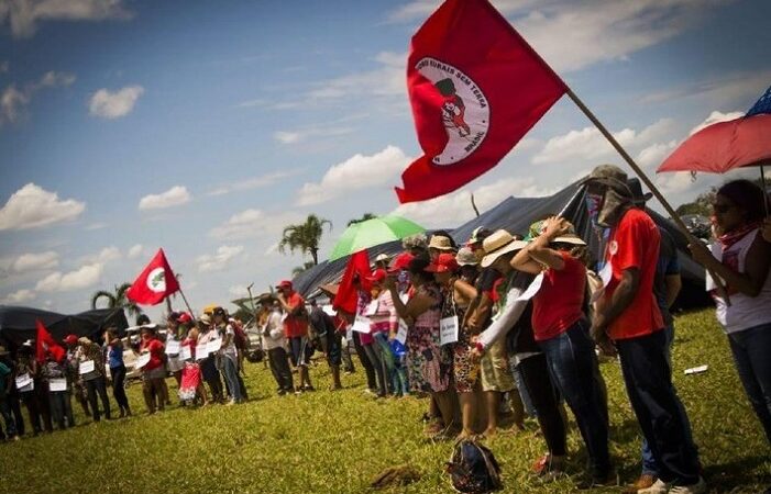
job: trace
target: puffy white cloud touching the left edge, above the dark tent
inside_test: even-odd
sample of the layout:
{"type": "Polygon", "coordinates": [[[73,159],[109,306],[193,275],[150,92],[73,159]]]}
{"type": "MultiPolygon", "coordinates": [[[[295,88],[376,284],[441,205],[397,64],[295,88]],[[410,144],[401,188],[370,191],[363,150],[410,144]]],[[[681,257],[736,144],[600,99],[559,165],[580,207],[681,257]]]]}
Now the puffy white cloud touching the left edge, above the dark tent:
{"type": "Polygon", "coordinates": [[[59,200],[34,183],[15,191],[0,209],[0,231],[27,229],[77,218],[86,204],[74,199],[59,200]]]}

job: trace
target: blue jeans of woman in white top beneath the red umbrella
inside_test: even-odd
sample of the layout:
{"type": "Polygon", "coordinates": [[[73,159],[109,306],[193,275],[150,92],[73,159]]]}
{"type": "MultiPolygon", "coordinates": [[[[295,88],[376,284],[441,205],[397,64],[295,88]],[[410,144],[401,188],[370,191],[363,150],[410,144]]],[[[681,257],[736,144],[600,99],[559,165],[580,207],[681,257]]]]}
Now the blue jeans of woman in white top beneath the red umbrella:
{"type": "Polygon", "coordinates": [[[736,371],[771,442],[771,324],[728,335],[736,371]]]}

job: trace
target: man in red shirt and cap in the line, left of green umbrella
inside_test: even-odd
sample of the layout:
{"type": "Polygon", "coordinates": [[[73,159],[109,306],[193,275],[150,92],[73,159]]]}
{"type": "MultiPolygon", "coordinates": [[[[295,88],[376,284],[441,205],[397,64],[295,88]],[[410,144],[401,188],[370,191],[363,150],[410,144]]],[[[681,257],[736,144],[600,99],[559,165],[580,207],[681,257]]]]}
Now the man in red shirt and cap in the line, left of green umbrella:
{"type": "Polygon", "coordinates": [[[300,391],[313,391],[308,374],[308,311],[305,308],[305,299],[297,293],[291,281],[284,280],[276,285],[278,289],[278,303],[286,312],[284,319],[284,334],[289,339],[291,350],[291,363],[299,368],[300,391]]]}

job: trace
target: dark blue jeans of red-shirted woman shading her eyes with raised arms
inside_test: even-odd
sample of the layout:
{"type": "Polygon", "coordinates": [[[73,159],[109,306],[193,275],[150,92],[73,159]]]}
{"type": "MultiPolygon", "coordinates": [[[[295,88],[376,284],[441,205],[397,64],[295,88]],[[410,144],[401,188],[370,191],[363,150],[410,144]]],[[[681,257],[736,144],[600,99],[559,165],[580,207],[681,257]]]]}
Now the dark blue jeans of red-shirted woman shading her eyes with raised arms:
{"type": "Polygon", "coordinates": [[[560,394],[575,415],[592,462],[592,474],[610,471],[607,409],[597,383],[597,355],[588,336],[588,322],[581,319],[554,338],[539,341],[549,372],[560,394]]]}

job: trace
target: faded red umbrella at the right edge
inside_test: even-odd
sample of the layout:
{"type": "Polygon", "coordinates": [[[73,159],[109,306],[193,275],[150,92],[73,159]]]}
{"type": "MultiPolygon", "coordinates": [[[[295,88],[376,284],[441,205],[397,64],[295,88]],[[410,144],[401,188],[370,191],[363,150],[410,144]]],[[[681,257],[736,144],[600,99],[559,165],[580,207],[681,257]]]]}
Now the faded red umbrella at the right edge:
{"type": "Polygon", "coordinates": [[[702,128],[678,147],[657,170],[725,173],[771,164],[771,114],[720,122],[702,128]]]}

